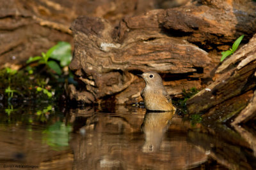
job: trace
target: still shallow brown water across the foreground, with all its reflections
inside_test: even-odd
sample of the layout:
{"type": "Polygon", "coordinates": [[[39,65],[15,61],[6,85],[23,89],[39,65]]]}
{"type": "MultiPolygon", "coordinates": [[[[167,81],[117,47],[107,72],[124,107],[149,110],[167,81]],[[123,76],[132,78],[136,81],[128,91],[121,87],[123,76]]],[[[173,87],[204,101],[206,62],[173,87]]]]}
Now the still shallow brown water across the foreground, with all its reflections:
{"type": "Polygon", "coordinates": [[[0,108],[0,169],[255,169],[254,131],[125,106],[0,108]],[[240,131],[240,132],[239,132],[240,131]]]}

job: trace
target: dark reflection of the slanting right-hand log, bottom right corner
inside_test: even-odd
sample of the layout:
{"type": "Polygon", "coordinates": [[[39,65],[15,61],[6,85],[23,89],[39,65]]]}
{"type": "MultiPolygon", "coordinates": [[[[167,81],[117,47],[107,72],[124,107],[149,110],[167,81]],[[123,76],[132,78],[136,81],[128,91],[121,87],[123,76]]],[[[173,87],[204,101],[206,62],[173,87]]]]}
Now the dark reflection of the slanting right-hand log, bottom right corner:
{"type": "Polygon", "coordinates": [[[255,169],[256,158],[248,149],[250,148],[249,142],[244,141],[248,137],[252,141],[255,138],[248,136],[249,134],[242,127],[234,128],[241,131],[241,134],[237,134],[224,125],[215,124],[212,127],[202,127],[200,131],[189,131],[188,139],[189,142],[198,146],[201,152],[207,153],[208,157],[228,169],[255,169]]]}

